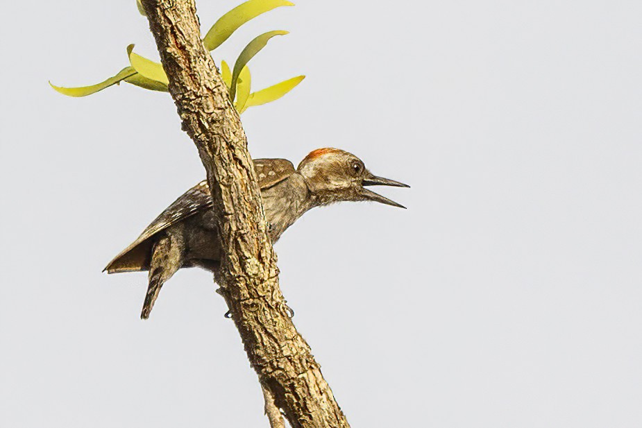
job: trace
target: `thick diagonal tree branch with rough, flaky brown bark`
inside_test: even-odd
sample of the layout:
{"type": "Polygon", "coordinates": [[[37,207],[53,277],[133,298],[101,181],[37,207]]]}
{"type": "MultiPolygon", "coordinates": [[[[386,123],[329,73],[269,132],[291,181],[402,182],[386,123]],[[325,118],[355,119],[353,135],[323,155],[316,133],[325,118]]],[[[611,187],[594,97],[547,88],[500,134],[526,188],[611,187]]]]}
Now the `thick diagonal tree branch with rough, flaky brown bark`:
{"type": "Polygon", "coordinates": [[[194,0],[142,3],[183,130],[208,174],[224,250],[216,279],[248,358],[293,428],[348,427],[289,317],[245,133],[201,42],[194,0]]]}

